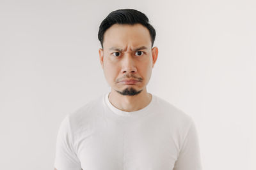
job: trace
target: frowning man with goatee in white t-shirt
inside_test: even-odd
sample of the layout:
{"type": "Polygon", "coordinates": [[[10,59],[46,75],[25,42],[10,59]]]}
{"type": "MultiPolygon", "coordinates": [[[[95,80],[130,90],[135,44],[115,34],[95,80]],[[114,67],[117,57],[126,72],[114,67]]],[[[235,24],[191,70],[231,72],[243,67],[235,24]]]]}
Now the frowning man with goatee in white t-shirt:
{"type": "Polygon", "coordinates": [[[116,10],[102,21],[99,59],[111,92],[65,117],[56,169],[202,169],[192,118],[147,92],[158,55],[155,36],[137,10],[116,10]]]}

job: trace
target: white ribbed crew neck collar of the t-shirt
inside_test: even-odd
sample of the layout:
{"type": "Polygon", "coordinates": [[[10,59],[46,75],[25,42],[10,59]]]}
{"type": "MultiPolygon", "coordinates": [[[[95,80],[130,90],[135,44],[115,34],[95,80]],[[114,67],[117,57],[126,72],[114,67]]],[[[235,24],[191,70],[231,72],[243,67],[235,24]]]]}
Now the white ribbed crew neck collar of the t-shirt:
{"type": "Polygon", "coordinates": [[[151,94],[152,99],[147,106],[145,106],[141,110],[128,112],[128,111],[119,110],[118,108],[113,106],[113,104],[111,104],[109,101],[109,94],[110,94],[110,92],[107,92],[104,95],[104,103],[106,104],[106,106],[108,106],[109,110],[113,111],[113,113],[116,113],[116,115],[120,115],[123,117],[141,117],[141,116],[147,115],[149,113],[149,111],[148,111],[149,108],[151,108],[156,101],[156,96],[154,96],[154,94],[151,94]]]}

